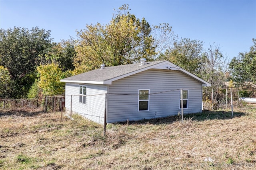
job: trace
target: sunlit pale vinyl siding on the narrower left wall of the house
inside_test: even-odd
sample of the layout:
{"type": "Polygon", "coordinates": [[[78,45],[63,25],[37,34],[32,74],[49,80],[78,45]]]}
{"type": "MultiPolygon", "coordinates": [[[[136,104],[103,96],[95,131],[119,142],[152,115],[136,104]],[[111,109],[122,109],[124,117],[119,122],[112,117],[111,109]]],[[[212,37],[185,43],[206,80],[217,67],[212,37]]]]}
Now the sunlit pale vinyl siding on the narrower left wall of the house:
{"type": "Polygon", "coordinates": [[[66,110],[70,112],[70,100],[72,95],[72,112],[78,113],[92,121],[103,124],[106,93],[106,85],[66,83],[66,110]],[[80,85],[86,86],[86,104],[79,103],[80,85]]]}

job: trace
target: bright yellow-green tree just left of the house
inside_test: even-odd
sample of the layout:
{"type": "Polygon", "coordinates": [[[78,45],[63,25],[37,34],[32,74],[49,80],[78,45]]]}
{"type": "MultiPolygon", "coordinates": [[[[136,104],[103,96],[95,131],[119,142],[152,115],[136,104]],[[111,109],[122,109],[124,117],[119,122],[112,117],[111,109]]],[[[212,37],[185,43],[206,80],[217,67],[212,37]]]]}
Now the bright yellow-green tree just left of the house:
{"type": "Polygon", "coordinates": [[[44,95],[63,94],[65,91],[65,83],[60,82],[60,79],[66,75],[62,72],[58,64],[51,63],[40,65],[38,71],[38,86],[42,89],[44,95]]]}

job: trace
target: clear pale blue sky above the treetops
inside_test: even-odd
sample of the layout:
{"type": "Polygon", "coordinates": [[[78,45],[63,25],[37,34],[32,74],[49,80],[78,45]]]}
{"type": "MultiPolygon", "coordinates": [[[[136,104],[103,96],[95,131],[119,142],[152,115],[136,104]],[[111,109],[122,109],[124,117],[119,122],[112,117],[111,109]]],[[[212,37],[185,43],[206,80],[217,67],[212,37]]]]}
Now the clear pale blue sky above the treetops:
{"type": "Polygon", "coordinates": [[[86,24],[108,24],[114,8],[150,25],[169,23],[179,38],[220,46],[229,59],[250,51],[256,38],[256,0],[0,0],[0,28],[51,30],[54,42],[76,37],[86,24]]]}

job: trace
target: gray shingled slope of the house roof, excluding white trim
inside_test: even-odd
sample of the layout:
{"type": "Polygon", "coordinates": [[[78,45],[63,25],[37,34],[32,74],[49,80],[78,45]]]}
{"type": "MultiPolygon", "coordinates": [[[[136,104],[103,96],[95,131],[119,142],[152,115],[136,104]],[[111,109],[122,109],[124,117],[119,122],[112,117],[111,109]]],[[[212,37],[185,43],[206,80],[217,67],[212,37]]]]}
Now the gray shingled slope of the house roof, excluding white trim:
{"type": "Polygon", "coordinates": [[[71,80],[80,80],[80,81],[106,81],[110,80],[112,78],[116,78],[118,76],[122,76],[134,71],[138,71],[140,69],[162,63],[165,61],[148,61],[143,66],[140,65],[140,63],[136,64],[126,64],[126,65],[120,65],[120,66],[110,66],[105,67],[104,69],[96,69],[91,70],[88,72],[84,72],[82,74],[78,74],[75,76],[71,76],[68,78],[62,79],[62,81],[71,81],[71,80]]]}

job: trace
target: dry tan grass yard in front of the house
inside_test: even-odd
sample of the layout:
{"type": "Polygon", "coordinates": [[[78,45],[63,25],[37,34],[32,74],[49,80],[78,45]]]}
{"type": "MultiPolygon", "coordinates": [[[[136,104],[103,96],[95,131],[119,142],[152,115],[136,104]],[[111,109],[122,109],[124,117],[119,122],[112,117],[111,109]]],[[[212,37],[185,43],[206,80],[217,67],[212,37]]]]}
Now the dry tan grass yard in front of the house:
{"type": "Polygon", "coordinates": [[[0,169],[256,169],[256,109],[103,127],[73,115],[0,111],[0,169]]]}

